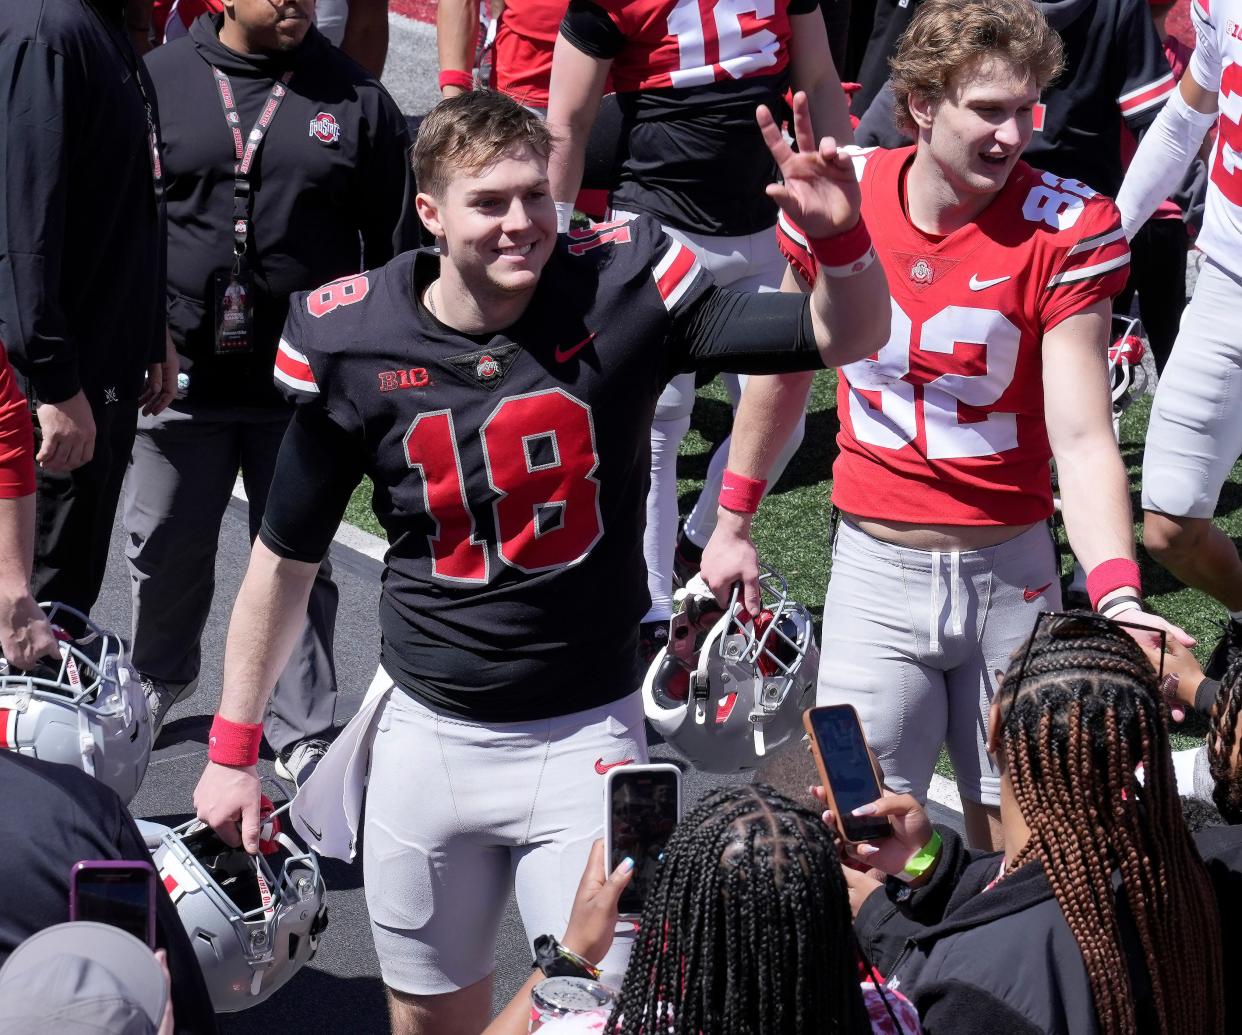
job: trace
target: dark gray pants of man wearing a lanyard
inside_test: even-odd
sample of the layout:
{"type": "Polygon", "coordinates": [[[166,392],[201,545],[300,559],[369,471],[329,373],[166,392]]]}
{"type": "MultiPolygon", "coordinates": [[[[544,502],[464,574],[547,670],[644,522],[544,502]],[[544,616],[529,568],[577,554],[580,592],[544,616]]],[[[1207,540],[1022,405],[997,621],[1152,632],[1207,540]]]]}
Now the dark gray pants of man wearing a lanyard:
{"type": "MultiPolygon", "coordinates": [[[[220,523],[241,468],[250,499],[250,537],[263,521],[287,411],[170,406],[138,419],[124,485],[124,519],[133,594],[134,667],[163,682],[199,675],[199,641],[215,593],[220,523]]],[[[337,586],[325,558],[302,636],[276,683],[263,722],[282,750],[332,728],[337,673],[332,637],[337,586]]]]}

